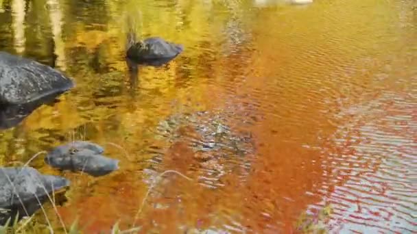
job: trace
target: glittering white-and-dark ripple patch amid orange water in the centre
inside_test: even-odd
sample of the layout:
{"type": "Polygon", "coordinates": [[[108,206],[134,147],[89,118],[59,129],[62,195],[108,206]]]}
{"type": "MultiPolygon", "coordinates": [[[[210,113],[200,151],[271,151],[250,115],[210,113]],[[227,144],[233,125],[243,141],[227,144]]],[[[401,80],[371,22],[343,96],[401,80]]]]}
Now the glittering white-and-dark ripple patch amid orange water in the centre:
{"type": "MultiPolygon", "coordinates": [[[[221,178],[229,173],[237,172],[244,179],[254,153],[252,135],[231,129],[226,117],[213,112],[194,112],[175,114],[160,121],[156,139],[162,144],[150,146],[150,161],[164,162],[164,157],[170,157],[169,150],[177,147],[180,154],[177,160],[190,162],[188,170],[200,173],[198,178],[202,185],[223,186],[221,178]],[[191,160],[187,158],[189,154],[191,160]]],[[[175,164],[171,166],[176,169],[175,164]]]]}

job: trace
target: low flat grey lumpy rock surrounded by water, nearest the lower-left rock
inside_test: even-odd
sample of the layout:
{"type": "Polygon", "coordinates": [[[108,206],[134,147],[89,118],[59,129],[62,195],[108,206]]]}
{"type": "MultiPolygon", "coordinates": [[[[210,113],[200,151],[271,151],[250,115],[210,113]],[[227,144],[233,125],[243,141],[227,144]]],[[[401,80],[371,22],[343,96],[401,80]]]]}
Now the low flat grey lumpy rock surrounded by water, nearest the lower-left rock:
{"type": "Polygon", "coordinates": [[[53,168],[86,172],[99,177],[119,169],[119,160],[104,157],[104,148],[92,142],[75,141],[54,148],[45,157],[53,168]]]}

